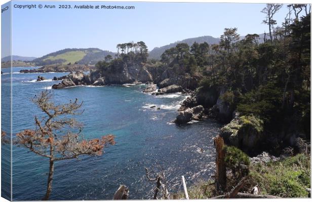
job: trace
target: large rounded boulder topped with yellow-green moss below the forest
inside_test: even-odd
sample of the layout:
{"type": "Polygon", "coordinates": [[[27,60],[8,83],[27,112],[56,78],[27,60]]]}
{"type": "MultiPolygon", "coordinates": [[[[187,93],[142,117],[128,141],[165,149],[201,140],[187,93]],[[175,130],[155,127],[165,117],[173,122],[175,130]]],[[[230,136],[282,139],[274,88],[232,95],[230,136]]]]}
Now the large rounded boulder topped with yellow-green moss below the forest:
{"type": "Polygon", "coordinates": [[[257,149],[264,142],[263,121],[253,115],[236,116],[221,128],[220,136],[224,141],[242,150],[257,149]]]}

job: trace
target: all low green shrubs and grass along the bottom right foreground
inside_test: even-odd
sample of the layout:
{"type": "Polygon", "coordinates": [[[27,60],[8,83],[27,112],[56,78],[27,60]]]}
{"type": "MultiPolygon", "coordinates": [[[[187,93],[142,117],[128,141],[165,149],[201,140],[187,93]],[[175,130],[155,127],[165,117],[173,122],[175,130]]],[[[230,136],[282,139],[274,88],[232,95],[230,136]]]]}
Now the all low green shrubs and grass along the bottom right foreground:
{"type": "MultiPolygon", "coordinates": [[[[308,197],[306,188],[310,188],[310,157],[298,154],[277,162],[250,165],[249,158],[235,147],[227,148],[229,155],[226,163],[229,169],[235,165],[246,164],[248,167],[247,182],[241,192],[250,192],[258,185],[259,194],[279,197],[308,197]],[[237,154],[239,152],[240,154],[237,154]]],[[[239,172],[239,171],[237,171],[239,172]]],[[[232,174],[227,175],[228,190],[237,185],[232,174]]],[[[216,195],[213,181],[199,182],[187,188],[190,199],[211,198],[216,195]]],[[[172,198],[184,198],[184,193],[173,194],[172,198]]]]}

